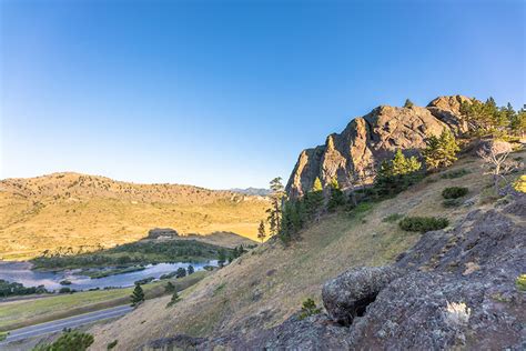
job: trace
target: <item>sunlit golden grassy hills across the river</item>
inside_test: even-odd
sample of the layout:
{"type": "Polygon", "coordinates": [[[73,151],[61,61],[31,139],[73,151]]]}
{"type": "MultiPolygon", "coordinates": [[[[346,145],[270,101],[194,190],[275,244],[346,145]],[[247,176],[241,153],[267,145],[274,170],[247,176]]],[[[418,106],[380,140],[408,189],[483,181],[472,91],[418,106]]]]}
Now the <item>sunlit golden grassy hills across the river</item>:
{"type": "Polygon", "coordinates": [[[92,250],[135,241],[155,227],[180,233],[230,231],[255,239],[267,201],[178,184],[134,184],[78,173],[0,182],[0,258],[92,250]]]}

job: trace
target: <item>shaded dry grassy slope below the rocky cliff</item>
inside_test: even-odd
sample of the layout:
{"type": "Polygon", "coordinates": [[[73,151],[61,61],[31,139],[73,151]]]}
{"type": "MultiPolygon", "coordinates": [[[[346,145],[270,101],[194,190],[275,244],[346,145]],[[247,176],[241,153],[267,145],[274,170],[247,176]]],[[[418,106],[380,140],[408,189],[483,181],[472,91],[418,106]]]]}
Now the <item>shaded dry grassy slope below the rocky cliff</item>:
{"type": "Polygon", "coordinates": [[[115,339],[127,350],[178,333],[243,334],[273,327],[299,311],[306,298],[320,304],[321,287],[327,279],[355,265],[392,262],[409,249],[419,233],[402,231],[387,220],[390,215],[442,215],[454,225],[474,208],[494,205],[488,201],[488,184],[490,179],[482,176],[479,160],[465,158],[394,199],[323,218],[291,248],[266,242],[194,285],[176,309],[165,309],[169,298],[154,299],[118,321],[94,327],[94,349],[115,339]],[[444,176],[452,171],[462,177],[444,176]],[[475,204],[444,207],[441,193],[453,185],[468,187],[465,199],[475,204]]]}

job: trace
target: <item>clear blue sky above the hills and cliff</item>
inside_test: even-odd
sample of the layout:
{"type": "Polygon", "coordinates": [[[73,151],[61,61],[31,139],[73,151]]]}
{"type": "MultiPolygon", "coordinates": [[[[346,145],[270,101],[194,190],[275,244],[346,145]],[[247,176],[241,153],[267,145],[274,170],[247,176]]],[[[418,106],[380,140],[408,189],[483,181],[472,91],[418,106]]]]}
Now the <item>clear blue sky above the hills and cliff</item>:
{"type": "Polygon", "coordinates": [[[526,102],[522,0],[0,6],[0,178],[266,187],[377,104],[526,102]]]}

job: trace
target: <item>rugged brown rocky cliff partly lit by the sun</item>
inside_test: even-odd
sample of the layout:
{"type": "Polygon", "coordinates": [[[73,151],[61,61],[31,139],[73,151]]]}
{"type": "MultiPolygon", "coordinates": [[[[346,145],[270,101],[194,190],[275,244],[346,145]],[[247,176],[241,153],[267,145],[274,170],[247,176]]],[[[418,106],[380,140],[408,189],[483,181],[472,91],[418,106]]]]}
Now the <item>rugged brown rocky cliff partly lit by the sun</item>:
{"type": "Polygon", "coordinates": [[[289,195],[303,195],[316,177],[323,184],[337,177],[343,189],[371,183],[377,164],[396,149],[417,153],[429,134],[444,128],[455,134],[467,131],[459,113],[464,101],[471,100],[452,96],[436,98],[426,108],[381,106],[353,119],[340,134],[330,134],[325,144],[300,153],[286,185],[289,195]]]}

